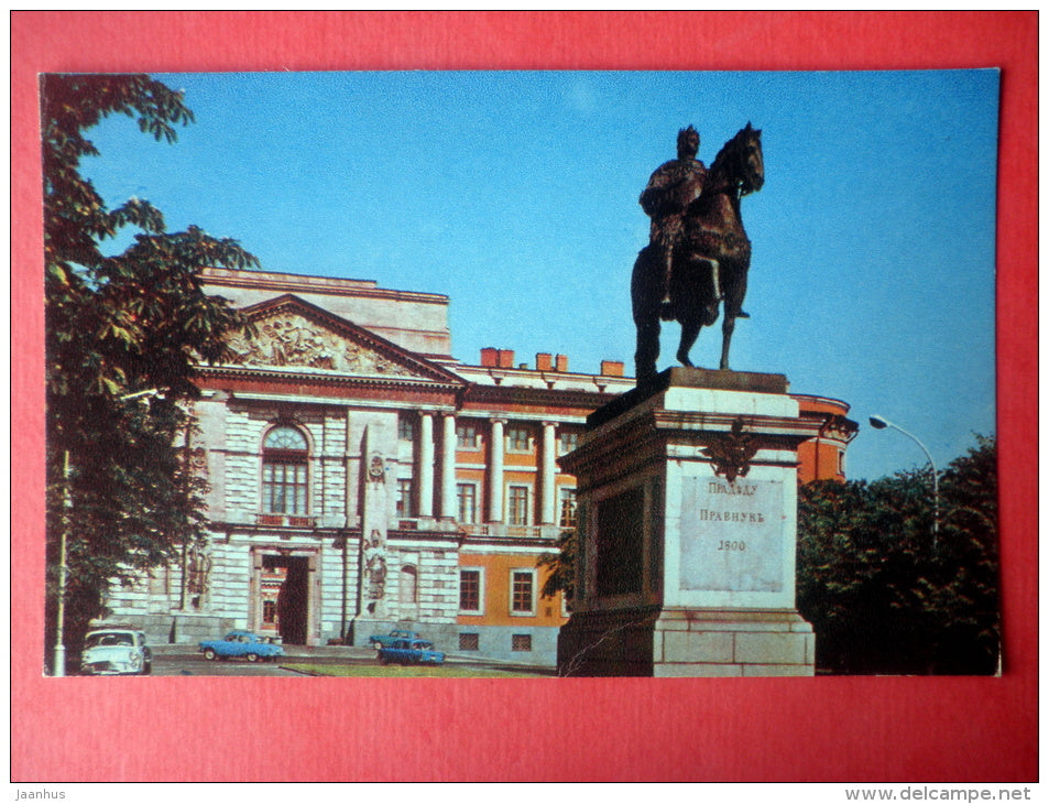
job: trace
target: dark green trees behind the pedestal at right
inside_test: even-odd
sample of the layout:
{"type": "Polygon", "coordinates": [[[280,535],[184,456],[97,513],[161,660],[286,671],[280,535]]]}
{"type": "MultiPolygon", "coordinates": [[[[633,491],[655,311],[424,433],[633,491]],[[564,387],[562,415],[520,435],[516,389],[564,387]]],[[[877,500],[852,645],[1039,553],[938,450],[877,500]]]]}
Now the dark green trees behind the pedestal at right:
{"type": "Polygon", "coordinates": [[[997,667],[993,438],[940,479],[927,471],[818,481],[798,500],[798,609],[817,665],[840,673],[990,674],[997,667]]]}

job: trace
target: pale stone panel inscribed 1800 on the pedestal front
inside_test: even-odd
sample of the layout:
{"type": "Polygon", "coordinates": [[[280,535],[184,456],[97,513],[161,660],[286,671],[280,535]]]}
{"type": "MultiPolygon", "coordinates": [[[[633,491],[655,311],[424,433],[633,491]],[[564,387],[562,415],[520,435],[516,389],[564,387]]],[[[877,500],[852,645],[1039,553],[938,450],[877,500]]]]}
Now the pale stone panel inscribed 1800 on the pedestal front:
{"type": "Polygon", "coordinates": [[[687,477],[681,485],[681,589],[782,591],[783,484],[687,477]]]}

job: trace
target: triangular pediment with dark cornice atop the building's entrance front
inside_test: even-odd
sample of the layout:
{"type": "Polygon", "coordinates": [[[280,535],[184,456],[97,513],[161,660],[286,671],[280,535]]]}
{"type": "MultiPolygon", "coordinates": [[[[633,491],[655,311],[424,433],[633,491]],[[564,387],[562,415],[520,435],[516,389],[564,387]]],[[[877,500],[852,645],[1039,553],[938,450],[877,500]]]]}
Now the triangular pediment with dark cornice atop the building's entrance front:
{"type": "Polygon", "coordinates": [[[293,295],[247,307],[254,336],[227,338],[227,365],[304,373],[461,382],[454,374],[293,295]]]}

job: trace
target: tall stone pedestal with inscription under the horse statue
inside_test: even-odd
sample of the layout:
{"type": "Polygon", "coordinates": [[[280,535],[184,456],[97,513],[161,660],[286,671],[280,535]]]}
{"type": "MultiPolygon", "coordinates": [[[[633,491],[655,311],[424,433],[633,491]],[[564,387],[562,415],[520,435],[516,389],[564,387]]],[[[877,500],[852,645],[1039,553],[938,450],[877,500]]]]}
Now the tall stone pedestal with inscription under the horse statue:
{"type": "Polygon", "coordinates": [[[811,675],[795,609],[797,447],[782,374],[669,369],[595,411],[577,478],[562,675],[811,675]]]}

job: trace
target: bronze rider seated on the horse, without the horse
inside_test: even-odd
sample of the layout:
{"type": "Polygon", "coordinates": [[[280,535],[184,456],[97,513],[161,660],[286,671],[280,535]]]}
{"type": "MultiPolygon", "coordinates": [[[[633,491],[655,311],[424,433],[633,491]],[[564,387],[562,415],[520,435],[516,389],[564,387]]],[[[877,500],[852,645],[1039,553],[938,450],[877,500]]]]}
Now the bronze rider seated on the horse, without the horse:
{"type": "Polygon", "coordinates": [[[699,198],[707,180],[707,166],[696,159],[699,132],[689,126],[677,134],[677,159],[665,162],[648,180],[641,194],[641,207],[652,218],[649,245],[658,254],[663,302],[670,301],[674,247],[681,239],[685,210],[699,198]]]}

